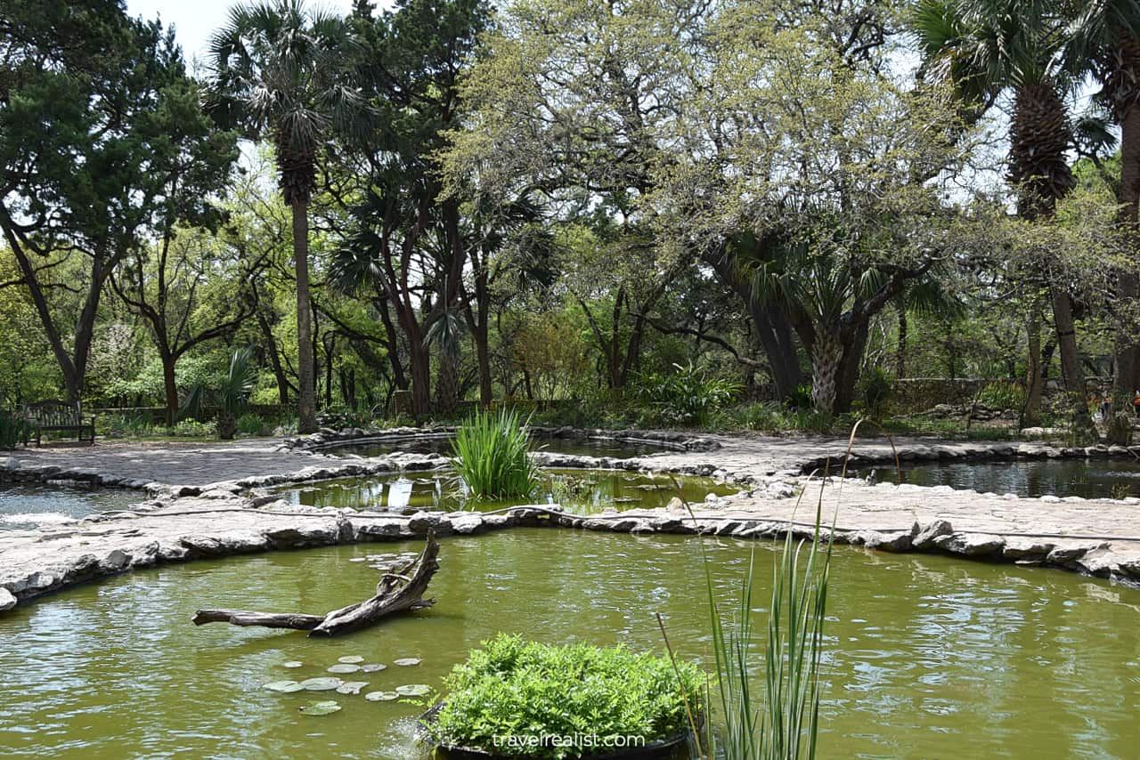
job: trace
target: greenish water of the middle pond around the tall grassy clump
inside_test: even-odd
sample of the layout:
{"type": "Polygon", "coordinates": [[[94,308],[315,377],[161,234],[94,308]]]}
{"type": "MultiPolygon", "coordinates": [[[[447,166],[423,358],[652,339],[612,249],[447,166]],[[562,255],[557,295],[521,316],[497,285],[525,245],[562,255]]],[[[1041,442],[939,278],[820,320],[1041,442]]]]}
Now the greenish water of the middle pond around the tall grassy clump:
{"type": "Polygon", "coordinates": [[[557,504],[567,512],[594,514],[606,508],[653,509],[677,496],[677,485],[691,502],[709,493],[728,496],[740,487],[705,477],[677,479],[624,471],[546,469],[530,499],[475,501],[451,469],[378,477],[345,477],[277,489],[290,504],[348,509],[500,509],[518,504],[557,504]]]}

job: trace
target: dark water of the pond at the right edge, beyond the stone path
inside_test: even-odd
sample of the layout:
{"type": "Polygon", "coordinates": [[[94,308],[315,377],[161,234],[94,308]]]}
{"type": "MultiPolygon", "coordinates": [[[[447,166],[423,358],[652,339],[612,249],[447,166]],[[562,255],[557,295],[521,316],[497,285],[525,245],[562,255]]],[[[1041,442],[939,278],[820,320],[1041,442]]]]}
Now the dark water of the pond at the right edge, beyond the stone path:
{"type": "MultiPolygon", "coordinates": [[[[865,473],[862,473],[865,474],[865,473]]],[[[880,481],[895,482],[893,467],[878,468],[880,481]]],[[[1085,499],[1140,497],[1140,461],[1135,459],[1031,459],[1013,461],[939,461],[913,465],[903,481],[915,485],[950,485],[978,492],[1024,497],[1080,496],[1085,499]]]]}

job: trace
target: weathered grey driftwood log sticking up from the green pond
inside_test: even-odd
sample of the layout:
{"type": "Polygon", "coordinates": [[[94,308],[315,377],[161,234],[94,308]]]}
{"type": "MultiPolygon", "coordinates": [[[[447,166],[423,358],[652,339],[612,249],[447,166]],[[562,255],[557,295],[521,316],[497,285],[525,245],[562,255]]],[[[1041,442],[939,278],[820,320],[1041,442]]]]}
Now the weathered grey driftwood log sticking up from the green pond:
{"type": "Polygon", "coordinates": [[[356,602],[324,615],[300,612],[247,612],[245,610],[198,610],[194,624],[230,623],[233,626],[261,626],[309,631],[309,636],[337,636],[367,628],[381,618],[398,612],[423,610],[435,603],[423,598],[427,583],[439,570],[439,542],[434,532],[427,533],[427,544],[420,556],[399,573],[385,573],[376,585],[370,599],[356,602]]]}

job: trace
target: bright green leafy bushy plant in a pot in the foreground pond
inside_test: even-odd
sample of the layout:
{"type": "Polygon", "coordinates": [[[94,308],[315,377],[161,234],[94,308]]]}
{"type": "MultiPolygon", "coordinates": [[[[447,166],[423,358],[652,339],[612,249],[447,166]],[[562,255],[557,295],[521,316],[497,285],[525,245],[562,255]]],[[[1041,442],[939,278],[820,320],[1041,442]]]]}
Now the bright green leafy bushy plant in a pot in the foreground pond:
{"type": "Polygon", "coordinates": [[[500,634],[455,667],[421,722],[455,760],[669,758],[701,726],[703,680],[665,655],[500,634]]]}

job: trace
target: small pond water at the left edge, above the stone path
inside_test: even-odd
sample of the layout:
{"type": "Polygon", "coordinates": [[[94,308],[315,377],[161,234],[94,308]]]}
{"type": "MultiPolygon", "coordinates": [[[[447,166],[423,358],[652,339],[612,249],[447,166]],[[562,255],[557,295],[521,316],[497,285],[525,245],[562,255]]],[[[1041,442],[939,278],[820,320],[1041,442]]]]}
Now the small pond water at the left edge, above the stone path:
{"type": "Polygon", "coordinates": [[[0,530],[71,522],[96,512],[129,509],[144,500],[144,493],[120,489],[0,483],[0,530]]]}

